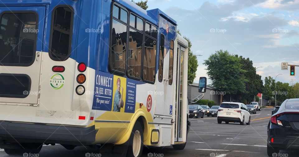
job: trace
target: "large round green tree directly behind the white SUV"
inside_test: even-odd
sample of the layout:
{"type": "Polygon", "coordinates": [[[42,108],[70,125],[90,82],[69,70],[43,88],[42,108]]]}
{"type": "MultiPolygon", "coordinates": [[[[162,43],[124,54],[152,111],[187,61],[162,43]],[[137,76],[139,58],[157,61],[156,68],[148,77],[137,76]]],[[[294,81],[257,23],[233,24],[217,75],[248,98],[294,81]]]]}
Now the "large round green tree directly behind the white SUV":
{"type": "MultiPolygon", "coordinates": [[[[246,71],[242,69],[243,64],[240,58],[235,57],[228,51],[219,50],[210,55],[203,64],[207,67],[207,75],[214,87],[224,91],[229,96],[246,93],[248,80],[244,77],[246,71]]],[[[220,97],[221,102],[222,95],[220,97]]]]}

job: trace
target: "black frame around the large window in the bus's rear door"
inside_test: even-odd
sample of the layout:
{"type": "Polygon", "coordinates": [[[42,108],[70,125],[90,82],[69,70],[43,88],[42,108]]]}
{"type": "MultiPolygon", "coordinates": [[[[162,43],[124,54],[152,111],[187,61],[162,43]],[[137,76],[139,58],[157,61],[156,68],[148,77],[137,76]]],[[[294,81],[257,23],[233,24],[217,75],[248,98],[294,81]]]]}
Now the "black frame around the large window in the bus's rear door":
{"type": "MultiPolygon", "coordinates": [[[[36,15],[36,30],[38,29],[39,26],[39,16],[38,13],[35,11],[4,11],[0,14],[0,27],[2,26],[1,22],[2,22],[2,16],[5,13],[33,13],[36,15]]],[[[33,56],[32,56],[32,61],[30,63],[27,64],[20,64],[20,63],[0,63],[0,66],[15,66],[15,67],[30,67],[36,59],[36,46],[37,46],[37,35],[38,33],[36,33],[36,39],[33,45],[33,56]]]]}

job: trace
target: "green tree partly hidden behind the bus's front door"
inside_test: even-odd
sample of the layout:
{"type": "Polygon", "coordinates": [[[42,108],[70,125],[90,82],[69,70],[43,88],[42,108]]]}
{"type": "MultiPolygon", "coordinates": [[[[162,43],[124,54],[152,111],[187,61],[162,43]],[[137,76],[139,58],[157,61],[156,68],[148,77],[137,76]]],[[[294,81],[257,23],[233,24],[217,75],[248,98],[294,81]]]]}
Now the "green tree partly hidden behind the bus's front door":
{"type": "MultiPolygon", "coordinates": [[[[177,31],[179,35],[182,35],[180,30],[177,31]]],[[[198,67],[198,60],[195,54],[191,51],[192,42],[186,36],[183,36],[184,39],[188,41],[188,84],[192,84],[195,77],[198,67]]]]}

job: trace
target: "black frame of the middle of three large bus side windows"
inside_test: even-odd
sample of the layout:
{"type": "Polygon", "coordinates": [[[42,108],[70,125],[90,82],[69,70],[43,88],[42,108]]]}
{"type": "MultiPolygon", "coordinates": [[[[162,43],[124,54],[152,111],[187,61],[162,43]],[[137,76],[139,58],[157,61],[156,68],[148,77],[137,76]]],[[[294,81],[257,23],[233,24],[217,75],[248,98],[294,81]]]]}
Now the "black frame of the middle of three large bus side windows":
{"type": "MultiPolygon", "coordinates": [[[[144,31],[144,28],[145,28],[145,20],[142,18],[142,17],[140,17],[140,16],[138,16],[138,15],[136,15],[134,12],[128,12],[128,33],[127,33],[127,36],[128,36],[128,39],[127,39],[127,42],[128,42],[128,50],[127,50],[127,52],[129,52],[129,40],[130,40],[130,29],[133,29],[133,30],[135,30],[135,31],[137,31],[137,32],[139,32],[139,33],[142,33],[142,52],[141,52],[141,65],[140,65],[140,77],[134,77],[134,76],[130,76],[129,75],[129,71],[128,71],[128,64],[127,64],[127,61],[128,61],[128,55],[126,55],[126,76],[128,77],[128,78],[131,78],[131,79],[134,79],[134,80],[138,80],[138,81],[140,81],[141,79],[142,79],[142,74],[143,74],[143,55],[144,55],[144,44],[145,44],[145,31],[144,31]],[[134,24],[134,27],[133,26],[131,26],[130,25],[130,18],[131,18],[131,15],[133,15],[133,16],[135,16],[135,24],[134,24]],[[135,27],[137,27],[137,18],[140,18],[142,21],[143,21],[143,31],[141,31],[141,30],[138,30],[137,28],[135,28],[135,27]]],[[[134,57],[133,57],[134,58],[134,57]]]]}

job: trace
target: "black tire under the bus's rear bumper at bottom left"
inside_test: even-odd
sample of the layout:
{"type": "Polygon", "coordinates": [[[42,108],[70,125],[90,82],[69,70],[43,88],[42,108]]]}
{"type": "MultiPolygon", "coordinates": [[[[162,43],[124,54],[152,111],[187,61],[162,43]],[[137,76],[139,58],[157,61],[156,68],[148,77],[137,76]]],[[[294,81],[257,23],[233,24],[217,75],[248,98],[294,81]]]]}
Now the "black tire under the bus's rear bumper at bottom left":
{"type": "Polygon", "coordinates": [[[38,154],[43,146],[42,143],[24,143],[21,145],[21,149],[4,149],[4,151],[8,155],[38,154]]]}

